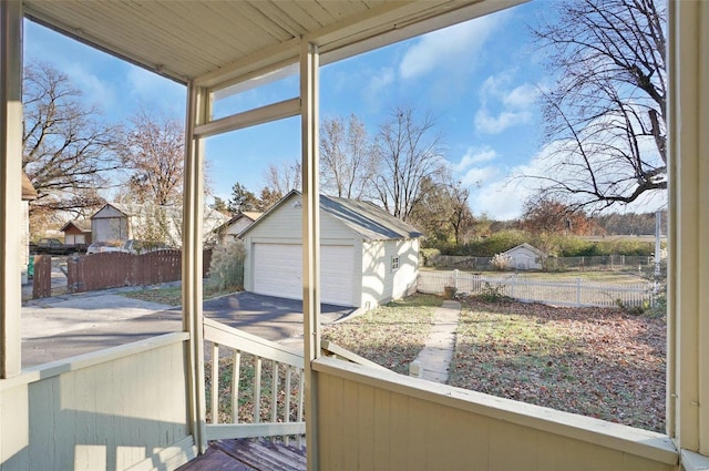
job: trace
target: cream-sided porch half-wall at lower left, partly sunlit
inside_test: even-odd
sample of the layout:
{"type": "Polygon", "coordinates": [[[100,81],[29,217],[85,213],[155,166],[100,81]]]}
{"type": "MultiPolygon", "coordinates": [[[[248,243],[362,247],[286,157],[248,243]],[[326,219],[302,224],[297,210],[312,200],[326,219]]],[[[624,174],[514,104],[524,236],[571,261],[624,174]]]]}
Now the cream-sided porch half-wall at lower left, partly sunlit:
{"type": "Polygon", "coordinates": [[[184,337],[32,368],[14,386],[6,380],[2,469],[169,469],[158,453],[189,439],[184,337]]]}

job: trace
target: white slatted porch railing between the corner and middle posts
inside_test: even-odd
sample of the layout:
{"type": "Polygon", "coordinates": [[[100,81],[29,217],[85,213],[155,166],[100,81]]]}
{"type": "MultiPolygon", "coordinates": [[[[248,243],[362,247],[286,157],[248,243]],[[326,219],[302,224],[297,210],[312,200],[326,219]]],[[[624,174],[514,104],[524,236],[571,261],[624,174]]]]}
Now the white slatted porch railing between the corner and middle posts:
{"type": "Polygon", "coordinates": [[[302,355],[212,319],[204,320],[204,336],[207,439],[281,437],[302,447],[302,355]]]}

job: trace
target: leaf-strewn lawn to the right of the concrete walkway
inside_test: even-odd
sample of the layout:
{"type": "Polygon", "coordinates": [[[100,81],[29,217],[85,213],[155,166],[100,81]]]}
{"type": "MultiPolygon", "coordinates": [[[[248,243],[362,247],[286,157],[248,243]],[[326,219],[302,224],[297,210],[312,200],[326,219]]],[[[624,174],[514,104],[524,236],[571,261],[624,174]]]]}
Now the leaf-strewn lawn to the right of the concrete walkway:
{"type": "Polygon", "coordinates": [[[666,355],[665,318],[471,299],[449,383],[664,432],[666,355]]]}

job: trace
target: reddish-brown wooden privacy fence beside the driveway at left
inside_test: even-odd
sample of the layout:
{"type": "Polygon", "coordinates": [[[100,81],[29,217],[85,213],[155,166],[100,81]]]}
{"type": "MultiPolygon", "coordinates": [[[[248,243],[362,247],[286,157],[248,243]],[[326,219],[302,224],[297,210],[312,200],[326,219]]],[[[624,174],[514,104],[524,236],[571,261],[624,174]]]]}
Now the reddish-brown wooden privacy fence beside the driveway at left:
{"type": "MultiPolygon", "coordinates": [[[[203,276],[207,276],[212,250],[205,250],[203,260],[203,276]]],[[[155,250],[141,255],[109,252],[72,257],[66,264],[70,293],[158,285],[181,278],[182,250],[155,250]]]]}

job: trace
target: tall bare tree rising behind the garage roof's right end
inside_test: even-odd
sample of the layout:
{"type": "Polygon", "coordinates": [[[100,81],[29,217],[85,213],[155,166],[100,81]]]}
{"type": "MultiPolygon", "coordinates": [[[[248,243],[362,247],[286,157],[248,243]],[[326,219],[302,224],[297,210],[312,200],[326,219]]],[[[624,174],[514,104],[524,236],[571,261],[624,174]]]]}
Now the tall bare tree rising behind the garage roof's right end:
{"type": "Polygon", "coordinates": [[[380,127],[372,184],[377,201],[395,217],[407,221],[425,193],[424,180],[444,174],[440,140],[431,115],[418,117],[409,106],[395,107],[380,127]]]}

